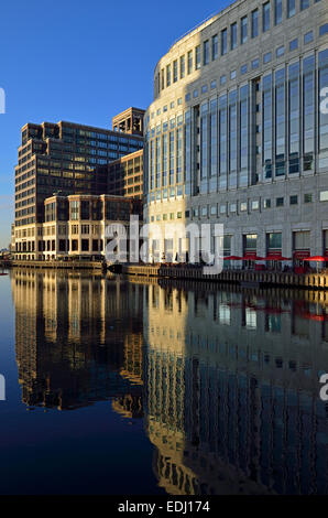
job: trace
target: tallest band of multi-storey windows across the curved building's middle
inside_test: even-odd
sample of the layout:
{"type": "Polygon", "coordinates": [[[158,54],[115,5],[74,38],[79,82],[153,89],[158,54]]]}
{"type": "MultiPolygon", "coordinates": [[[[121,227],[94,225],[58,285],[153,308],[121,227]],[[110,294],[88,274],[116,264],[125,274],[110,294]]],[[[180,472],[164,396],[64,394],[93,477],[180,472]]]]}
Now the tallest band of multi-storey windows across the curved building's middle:
{"type": "MultiPolygon", "coordinates": [[[[328,50],[267,72],[252,87],[231,89],[151,128],[146,133],[149,171],[145,183],[149,180],[149,190],[184,183],[186,195],[190,194],[192,184],[194,192],[199,187],[200,193],[206,194],[227,186],[241,187],[314,171],[316,165],[318,171],[325,171],[328,119],[322,110],[317,118],[315,114],[316,99],[327,85],[327,74],[328,50]],[[316,68],[319,72],[317,84],[316,68]],[[261,112],[256,125],[255,111],[261,112]],[[173,130],[175,126],[177,129],[173,130]],[[255,134],[261,165],[255,145],[249,144],[250,137],[255,134]],[[196,168],[197,176],[193,174],[196,168]]],[[[163,197],[167,197],[164,191],[163,197]]]]}

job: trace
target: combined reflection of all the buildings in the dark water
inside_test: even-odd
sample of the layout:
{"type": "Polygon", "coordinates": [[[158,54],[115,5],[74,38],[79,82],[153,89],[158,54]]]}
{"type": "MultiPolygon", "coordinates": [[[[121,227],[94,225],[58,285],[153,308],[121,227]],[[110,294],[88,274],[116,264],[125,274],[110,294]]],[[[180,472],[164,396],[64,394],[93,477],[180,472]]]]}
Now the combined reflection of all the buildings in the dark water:
{"type": "Polygon", "coordinates": [[[34,271],[12,288],[28,406],[143,418],[168,494],[327,493],[324,293],[34,271]]]}

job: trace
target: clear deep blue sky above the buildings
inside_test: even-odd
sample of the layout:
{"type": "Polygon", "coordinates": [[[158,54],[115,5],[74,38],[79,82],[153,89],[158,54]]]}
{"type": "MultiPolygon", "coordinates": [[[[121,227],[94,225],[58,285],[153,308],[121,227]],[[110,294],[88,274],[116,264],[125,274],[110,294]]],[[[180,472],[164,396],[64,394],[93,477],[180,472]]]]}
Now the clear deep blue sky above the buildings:
{"type": "Polygon", "coordinates": [[[152,101],[171,44],[231,0],[7,0],[0,17],[0,249],[10,241],[20,129],[69,120],[103,128],[152,101]]]}

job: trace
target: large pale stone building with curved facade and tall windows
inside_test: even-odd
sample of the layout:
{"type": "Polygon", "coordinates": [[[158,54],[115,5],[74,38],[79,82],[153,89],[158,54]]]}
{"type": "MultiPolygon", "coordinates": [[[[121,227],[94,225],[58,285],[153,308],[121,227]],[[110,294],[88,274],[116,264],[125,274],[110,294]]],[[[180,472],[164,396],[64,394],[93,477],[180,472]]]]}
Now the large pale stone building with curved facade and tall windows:
{"type": "MultiPolygon", "coordinates": [[[[146,222],[223,224],[227,256],[328,255],[327,87],[324,0],[239,0],[183,36],[145,114],[146,222]]],[[[150,238],[153,259],[188,249],[150,238]]]]}

